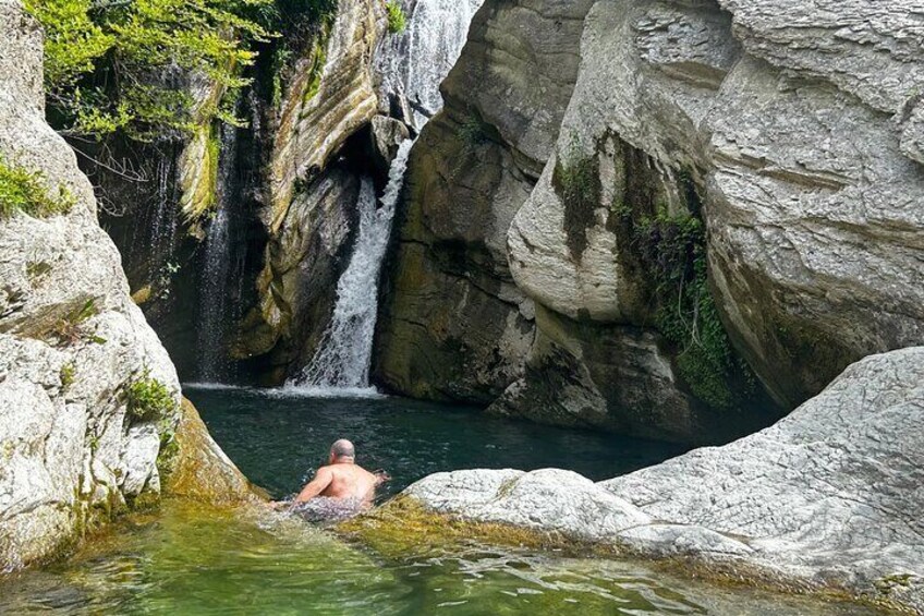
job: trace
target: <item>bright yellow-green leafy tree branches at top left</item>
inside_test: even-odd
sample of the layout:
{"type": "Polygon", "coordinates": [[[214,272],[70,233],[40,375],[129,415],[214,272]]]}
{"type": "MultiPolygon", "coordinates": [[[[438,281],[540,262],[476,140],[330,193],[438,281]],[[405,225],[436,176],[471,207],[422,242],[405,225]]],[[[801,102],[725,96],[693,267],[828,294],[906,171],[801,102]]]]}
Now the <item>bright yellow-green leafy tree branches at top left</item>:
{"type": "MultiPolygon", "coordinates": [[[[193,101],[177,71],[227,88],[266,40],[272,0],[25,0],[46,32],[45,81],[52,118],[65,132],[117,131],[137,141],[184,133],[193,101]]],[[[199,110],[207,121],[226,110],[199,110]]]]}

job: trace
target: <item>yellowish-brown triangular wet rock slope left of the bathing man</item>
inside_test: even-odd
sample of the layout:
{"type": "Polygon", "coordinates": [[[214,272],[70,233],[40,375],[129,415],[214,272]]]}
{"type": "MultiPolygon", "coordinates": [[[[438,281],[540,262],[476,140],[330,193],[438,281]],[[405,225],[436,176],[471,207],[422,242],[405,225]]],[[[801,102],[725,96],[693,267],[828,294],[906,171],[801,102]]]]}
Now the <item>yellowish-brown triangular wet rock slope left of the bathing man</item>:
{"type": "Polygon", "coordinates": [[[165,493],[212,504],[258,503],[268,498],[212,440],[198,411],[185,398],[174,438],[178,451],[169,462],[165,493]]]}

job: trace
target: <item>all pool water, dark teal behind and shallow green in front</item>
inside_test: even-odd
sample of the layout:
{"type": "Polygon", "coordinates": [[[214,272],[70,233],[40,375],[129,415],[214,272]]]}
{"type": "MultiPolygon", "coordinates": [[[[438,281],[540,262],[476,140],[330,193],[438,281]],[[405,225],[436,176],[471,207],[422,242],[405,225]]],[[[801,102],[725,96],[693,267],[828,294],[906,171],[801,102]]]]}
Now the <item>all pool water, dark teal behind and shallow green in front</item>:
{"type": "MultiPolygon", "coordinates": [[[[490,420],[401,399],[324,400],[191,389],[216,439],[277,496],[331,440],[356,442],[391,491],[465,467],[564,466],[603,479],[671,446],[490,420]]],[[[0,614],[872,614],[849,604],[678,579],[636,563],[475,543],[386,557],[299,519],[167,503],[69,563],[0,581],[0,614]]]]}

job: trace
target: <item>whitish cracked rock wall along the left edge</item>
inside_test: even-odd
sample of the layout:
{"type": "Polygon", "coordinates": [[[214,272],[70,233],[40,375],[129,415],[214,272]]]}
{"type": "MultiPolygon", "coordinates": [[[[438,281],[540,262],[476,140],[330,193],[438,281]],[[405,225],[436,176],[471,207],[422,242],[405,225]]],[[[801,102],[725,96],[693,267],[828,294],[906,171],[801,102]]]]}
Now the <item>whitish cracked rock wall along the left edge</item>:
{"type": "Polygon", "coordinates": [[[0,158],[73,203],[66,215],[0,220],[0,571],[9,571],[157,499],[180,385],[129,297],[89,181],[45,122],[39,27],[3,0],[0,33],[0,158]]]}

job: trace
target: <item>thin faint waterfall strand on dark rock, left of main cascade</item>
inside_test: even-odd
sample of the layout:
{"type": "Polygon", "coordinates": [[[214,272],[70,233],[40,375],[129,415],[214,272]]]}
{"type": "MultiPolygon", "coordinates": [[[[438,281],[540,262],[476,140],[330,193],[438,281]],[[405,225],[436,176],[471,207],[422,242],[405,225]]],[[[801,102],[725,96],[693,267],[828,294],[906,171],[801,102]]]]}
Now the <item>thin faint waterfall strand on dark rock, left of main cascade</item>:
{"type": "Polygon", "coordinates": [[[208,226],[205,255],[199,283],[198,354],[199,379],[219,383],[228,378],[229,362],[226,348],[229,322],[229,288],[232,286],[233,232],[232,217],[236,135],[233,126],[222,125],[216,184],[217,210],[208,226]]]}

